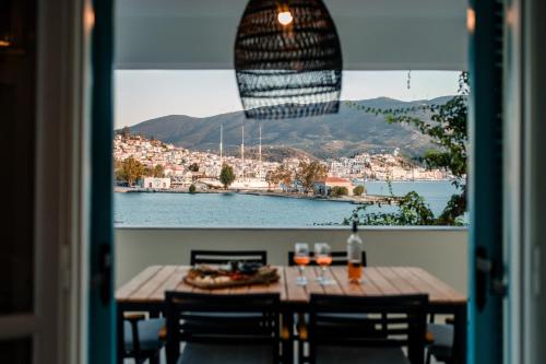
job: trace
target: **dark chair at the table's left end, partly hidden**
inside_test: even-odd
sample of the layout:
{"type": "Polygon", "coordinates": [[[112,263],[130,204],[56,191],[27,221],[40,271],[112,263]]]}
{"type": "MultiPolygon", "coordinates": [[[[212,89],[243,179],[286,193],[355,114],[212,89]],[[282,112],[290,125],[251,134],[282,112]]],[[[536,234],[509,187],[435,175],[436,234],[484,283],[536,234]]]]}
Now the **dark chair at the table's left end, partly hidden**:
{"type": "Polygon", "coordinates": [[[158,363],[159,353],[165,345],[161,337],[165,318],[146,318],[144,314],[130,314],[123,317],[123,357],[133,359],[135,364],[158,363]]]}

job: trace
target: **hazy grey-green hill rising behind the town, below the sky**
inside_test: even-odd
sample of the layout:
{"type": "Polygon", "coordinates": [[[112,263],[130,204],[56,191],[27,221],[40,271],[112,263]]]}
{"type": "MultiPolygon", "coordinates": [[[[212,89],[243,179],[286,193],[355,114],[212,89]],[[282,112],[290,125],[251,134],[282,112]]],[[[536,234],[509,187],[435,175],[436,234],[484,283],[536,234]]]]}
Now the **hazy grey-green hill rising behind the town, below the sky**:
{"type": "MultiPolygon", "coordinates": [[[[357,102],[359,105],[381,109],[412,107],[422,104],[443,104],[451,96],[430,101],[402,102],[379,97],[357,102]]],[[[426,115],[420,115],[427,118],[426,115]]],[[[300,119],[252,120],[245,119],[242,111],[205,118],[168,115],[140,122],[130,128],[133,133],[155,138],[190,150],[217,150],[219,126],[224,126],[226,153],[238,153],[241,142],[241,125],[245,121],[245,145],[259,142],[259,122],[262,125],[262,144],[285,155],[309,153],[319,158],[353,155],[357,152],[393,150],[404,154],[420,155],[432,148],[428,137],[413,127],[388,124],[382,115],[365,114],[342,103],[340,113],[300,119]]],[[[264,151],[266,148],[264,146],[264,151]]],[[[278,155],[276,155],[278,156],[278,155]]]]}

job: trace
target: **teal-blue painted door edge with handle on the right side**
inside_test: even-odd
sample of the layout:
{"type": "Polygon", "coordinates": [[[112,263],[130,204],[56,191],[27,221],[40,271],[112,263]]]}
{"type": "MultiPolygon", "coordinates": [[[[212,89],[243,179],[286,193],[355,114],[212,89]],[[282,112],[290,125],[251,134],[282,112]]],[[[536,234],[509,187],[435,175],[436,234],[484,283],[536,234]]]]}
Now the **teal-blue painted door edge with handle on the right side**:
{"type": "Polygon", "coordinates": [[[502,2],[471,1],[470,364],[502,363],[502,2]]]}

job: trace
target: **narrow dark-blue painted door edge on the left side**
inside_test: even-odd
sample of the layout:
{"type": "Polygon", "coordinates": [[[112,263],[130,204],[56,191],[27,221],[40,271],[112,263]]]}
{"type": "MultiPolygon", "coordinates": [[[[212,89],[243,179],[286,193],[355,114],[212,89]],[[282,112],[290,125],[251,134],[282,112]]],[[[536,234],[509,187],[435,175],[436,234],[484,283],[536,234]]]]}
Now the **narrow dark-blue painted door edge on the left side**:
{"type": "Polygon", "coordinates": [[[88,359],[114,363],[114,219],[112,219],[112,1],[94,0],[92,33],[91,224],[88,359]]]}

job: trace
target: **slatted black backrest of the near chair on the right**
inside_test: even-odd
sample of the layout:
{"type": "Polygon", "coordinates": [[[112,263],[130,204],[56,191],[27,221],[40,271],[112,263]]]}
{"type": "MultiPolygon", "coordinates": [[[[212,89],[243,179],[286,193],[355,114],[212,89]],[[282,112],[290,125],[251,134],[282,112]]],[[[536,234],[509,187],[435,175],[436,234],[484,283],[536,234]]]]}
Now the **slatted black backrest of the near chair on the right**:
{"type": "Polygon", "coordinates": [[[412,364],[425,359],[428,295],[344,296],[311,294],[309,343],[317,345],[406,347],[412,364]]]}

